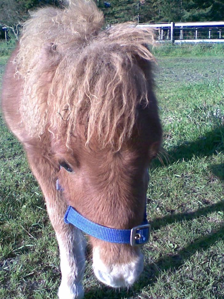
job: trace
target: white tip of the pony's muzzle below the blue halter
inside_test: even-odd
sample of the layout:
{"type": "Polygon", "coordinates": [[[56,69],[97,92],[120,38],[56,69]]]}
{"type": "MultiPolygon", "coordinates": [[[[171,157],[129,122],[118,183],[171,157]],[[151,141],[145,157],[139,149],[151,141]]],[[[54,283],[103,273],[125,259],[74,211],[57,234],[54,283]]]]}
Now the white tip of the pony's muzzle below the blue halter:
{"type": "Polygon", "coordinates": [[[93,270],[99,281],[113,288],[132,285],[143,271],[143,254],[126,264],[106,265],[100,258],[100,248],[93,249],[93,270]]]}

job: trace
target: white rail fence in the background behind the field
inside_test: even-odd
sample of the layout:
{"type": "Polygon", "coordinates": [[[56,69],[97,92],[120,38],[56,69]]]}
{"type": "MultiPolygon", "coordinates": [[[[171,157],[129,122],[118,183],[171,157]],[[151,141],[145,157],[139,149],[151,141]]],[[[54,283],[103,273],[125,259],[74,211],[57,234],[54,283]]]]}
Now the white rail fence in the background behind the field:
{"type": "Polygon", "coordinates": [[[224,21],[138,24],[158,29],[158,41],[172,43],[224,43],[224,21]],[[202,34],[202,35],[200,35],[202,34]]]}

